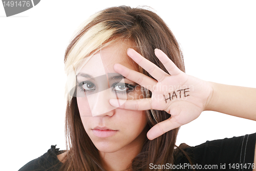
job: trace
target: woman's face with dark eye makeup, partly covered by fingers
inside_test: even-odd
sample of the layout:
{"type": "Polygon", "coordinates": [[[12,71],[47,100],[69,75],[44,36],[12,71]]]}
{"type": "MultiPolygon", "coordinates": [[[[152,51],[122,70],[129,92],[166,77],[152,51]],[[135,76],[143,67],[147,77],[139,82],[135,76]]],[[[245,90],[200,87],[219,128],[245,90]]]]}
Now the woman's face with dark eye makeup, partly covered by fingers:
{"type": "Polygon", "coordinates": [[[109,99],[142,98],[140,86],[114,70],[115,63],[137,70],[127,56],[129,47],[131,43],[123,41],[101,49],[77,74],[80,92],[85,94],[77,97],[82,124],[101,152],[141,148],[146,138],[144,111],[120,109],[109,104],[109,99]]]}

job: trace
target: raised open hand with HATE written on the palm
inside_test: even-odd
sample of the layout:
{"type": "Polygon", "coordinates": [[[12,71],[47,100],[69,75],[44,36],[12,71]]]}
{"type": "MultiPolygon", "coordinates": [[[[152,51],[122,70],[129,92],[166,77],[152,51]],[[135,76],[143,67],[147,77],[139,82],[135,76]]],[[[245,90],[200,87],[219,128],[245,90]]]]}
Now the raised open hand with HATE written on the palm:
{"type": "Polygon", "coordinates": [[[143,58],[134,49],[127,50],[127,54],[156,80],[147,77],[143,73],[126,68],[121,64],[114,65],[115,71],[150,90],[152,97],[126,100],[121,106],[118,106],[116,101],[110,100],[110,104],[129,110],[156,109],[168,112],[171,117],[153,126],[147,132],[148,139],[153,140],[165,132],[187,124],[199,117],[210,99],[212,87],[209,82],[182,72],[159,49],[155,50],[155,54],[169,73],[164,72],[155,64],[143,58]]]}

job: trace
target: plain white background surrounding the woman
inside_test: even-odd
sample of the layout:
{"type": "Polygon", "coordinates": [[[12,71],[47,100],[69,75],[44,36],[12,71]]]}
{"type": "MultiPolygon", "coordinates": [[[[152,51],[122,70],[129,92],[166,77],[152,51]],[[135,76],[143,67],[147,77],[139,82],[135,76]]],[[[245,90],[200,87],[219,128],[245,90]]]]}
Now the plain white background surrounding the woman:
{"type": "MultiPolygon", "coordinates": [[[[18,170],[57,144],[65,149],[63,55],[75,29],[107,7],[154,8],[181,44],[186,72],[256,87],[254,1],[41,1],[6,17],[0,4],[1,164],[18,170]]],[[[204,111],[180,129],[177,145],[256,132],[255,121],[204,111]]]]}

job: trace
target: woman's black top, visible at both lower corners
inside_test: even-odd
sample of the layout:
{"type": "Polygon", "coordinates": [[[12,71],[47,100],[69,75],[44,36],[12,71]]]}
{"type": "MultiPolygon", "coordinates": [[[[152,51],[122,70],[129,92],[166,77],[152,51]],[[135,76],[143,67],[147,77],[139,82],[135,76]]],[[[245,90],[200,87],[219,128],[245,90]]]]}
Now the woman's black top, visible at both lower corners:
{"type": "MultiPolygon", "coordinates": [[[[205,143],[187,147],[185,151],[189,154],[192,164],[187,159],[179,157],[176,164],[154,165],[150,168],[173,168],[178,170],[252,170],[256,167],[253,164],[256,133],[241,137],[225,138],[223,140],[206,141],[205,143]]],[[[52,145],[44,155],[34,159],[20,168],[18,171],[55,171],[59,170],[61,163],[57,155],[63,153],[52,145]]]]}

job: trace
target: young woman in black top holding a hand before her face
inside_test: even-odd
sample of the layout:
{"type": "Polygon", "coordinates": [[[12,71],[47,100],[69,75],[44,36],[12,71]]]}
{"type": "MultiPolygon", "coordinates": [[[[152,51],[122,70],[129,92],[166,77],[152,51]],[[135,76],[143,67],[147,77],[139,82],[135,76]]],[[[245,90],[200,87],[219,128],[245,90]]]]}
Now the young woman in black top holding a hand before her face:
{"type": "Polygon", "coordinates": [[[176,148],[202,111],[256,120],[256,90],[185,74],[180,47],[152,11],[105,9],[65,54],[67,150],[52,146],[23,170],[255,170],[256,134],[176,148]],[[254,163],[253,163],[254,162],[254,163]]]}

